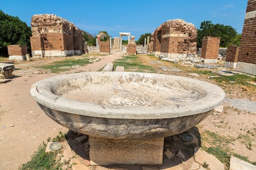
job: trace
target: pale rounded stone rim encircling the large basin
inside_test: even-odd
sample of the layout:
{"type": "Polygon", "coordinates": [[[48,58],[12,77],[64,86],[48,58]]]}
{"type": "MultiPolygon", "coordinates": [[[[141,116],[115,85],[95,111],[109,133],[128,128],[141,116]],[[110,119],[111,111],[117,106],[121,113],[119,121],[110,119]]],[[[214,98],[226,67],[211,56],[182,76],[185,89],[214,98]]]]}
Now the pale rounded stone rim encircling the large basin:
{"type": "Polygon", "coordinates": [[[53,110],[58,110],[64,113],[85,115],[90,117],[103,117],[112,119],[168,119],[182,116],[195,115],[198,113],[207,112],[218,107],[225,100],[225,92],[218,86],[209,82],[204,82],[198,79],[182,77],[176,75],[164,75],[156,73],[137,73],[137,72],[85,72],[74,73],[68,75],[59,75],[40,80],[31,86],[31,96],[38,102],[53,110]],[[179,106],[171,104],[168,106],[108,106],[92,103],[79,102],[65,97],[61,97],[52,93],[51,88],[47,87],[54,81],[63,77],[73,78],[77,75],[125,75],[139,74],[166,76],[169,78],[185,79],[187,82],[196,83],[207,94],[201,99],[184,102],[179,106]]]}

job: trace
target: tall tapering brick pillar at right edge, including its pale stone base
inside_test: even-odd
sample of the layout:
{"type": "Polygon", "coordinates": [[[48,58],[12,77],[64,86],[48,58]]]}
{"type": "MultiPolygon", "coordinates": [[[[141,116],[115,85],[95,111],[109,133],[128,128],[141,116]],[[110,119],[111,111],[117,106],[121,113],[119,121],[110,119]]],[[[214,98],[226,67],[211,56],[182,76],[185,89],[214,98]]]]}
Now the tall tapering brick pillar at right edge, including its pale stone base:
{"type": "Polygon", "coordinates": [[[256,75],[256,0],[248,0],[236,71],[256,75]]]}

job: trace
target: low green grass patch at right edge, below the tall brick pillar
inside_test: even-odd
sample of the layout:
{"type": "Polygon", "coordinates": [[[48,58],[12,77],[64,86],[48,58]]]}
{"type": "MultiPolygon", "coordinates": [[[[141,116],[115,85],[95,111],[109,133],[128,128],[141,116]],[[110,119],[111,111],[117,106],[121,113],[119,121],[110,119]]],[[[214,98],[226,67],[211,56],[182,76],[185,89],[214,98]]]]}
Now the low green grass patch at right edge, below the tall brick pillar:
{"type": "Polygon", "coordinates": [[[220,77],[214,77],[213,79],[216,80],[216,82],[223,83],[225,84],[242,84],[244,86],[251,85],[248,82],[256,82],[256,77],[251,77],[249,75],[245,74],[234,74],[230,76],[220,76],[220,77]]]}

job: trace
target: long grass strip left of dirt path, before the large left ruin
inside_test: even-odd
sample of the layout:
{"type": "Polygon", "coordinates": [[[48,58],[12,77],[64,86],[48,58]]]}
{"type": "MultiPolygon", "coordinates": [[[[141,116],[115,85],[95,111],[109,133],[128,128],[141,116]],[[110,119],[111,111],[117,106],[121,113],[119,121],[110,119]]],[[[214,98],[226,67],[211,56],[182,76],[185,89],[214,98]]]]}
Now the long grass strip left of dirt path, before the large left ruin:
{"type": "MultiPolygon", "coordinates": [[[[83,56],[86,57],[86,56],[83,56]]],[[[79,58],[79,59],[65,59],[61,61],[52,62],[47,65],[42,66],[36,66],[36,68],[43,68],[45,70],[50,70],[52,73],[58,73],[62,71],[69,71],[72,66],[85,66],[87,64],[90,64],[92,62],[89,62],[89,58],[79,58]]]]}

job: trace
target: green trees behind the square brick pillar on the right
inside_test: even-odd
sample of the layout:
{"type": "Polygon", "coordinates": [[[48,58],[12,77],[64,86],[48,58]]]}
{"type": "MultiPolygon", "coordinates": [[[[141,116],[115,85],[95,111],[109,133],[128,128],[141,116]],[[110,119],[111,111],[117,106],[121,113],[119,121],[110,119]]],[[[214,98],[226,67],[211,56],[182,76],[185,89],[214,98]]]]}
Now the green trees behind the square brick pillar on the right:
{"type": "Polygon", "coordinates": [[[199,48],[202,46],[203,37],[221,37],[220,46],[227,47],[236,36],[237,32],[232,26],[204,21],[201,22],[200,29],[198,29],[197,46],[199,48]]]}

